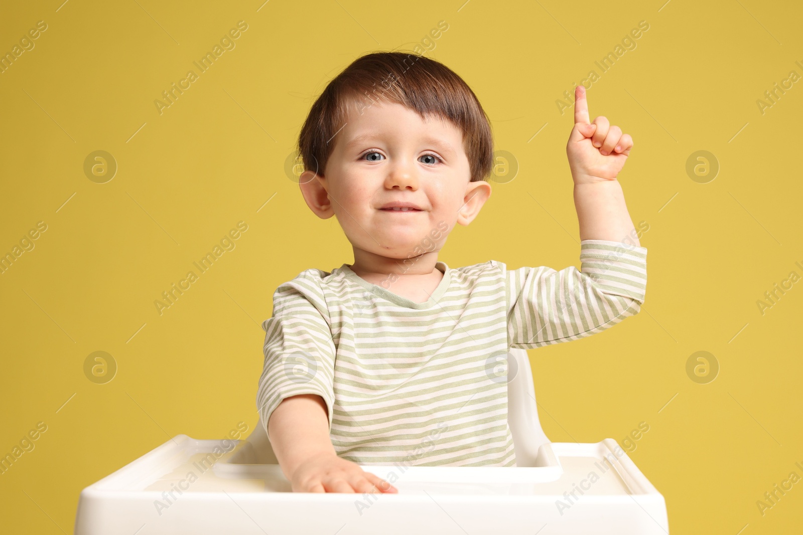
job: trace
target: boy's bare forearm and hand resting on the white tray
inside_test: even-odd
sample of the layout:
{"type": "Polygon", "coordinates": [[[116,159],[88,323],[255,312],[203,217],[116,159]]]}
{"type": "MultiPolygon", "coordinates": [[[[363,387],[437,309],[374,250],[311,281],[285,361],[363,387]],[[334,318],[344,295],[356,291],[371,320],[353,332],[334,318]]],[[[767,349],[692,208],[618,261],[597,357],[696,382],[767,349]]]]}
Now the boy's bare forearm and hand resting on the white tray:
{"type": "Polygon", "coordinates": [[[293,492],[398,492],[359,464],[337,456],[329,440],[326,402],[315,394],[283,399],[267,422],[271,447],[293,492]]]}

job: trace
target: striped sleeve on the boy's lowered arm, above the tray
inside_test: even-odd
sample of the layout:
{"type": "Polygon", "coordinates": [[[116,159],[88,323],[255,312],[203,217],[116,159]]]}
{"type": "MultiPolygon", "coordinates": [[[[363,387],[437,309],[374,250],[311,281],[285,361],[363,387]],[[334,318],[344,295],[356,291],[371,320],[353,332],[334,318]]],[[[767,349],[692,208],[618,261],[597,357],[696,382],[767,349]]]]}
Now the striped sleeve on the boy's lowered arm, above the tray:
{"type": "Polygon", "coordinates": [[[332,431],[336,349],[320,273],[306,270],[279,286],[273,294],[273,315],[262,323],[265,363],[256,403],[266,433],[279,403],[299,394],[324,399],[332,431]]]}

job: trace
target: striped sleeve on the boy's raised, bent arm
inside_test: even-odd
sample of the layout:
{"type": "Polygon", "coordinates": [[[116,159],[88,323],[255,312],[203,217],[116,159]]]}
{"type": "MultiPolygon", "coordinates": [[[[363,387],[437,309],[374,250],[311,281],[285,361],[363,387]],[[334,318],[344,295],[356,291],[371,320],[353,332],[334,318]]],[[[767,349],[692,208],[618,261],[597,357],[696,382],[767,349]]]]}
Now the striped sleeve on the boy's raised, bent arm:
{"type": "Polygon", "coordinates": [[[646,290],[645,247],[580,242],[580,271],[545,266],[506,270],[507,338],[532,349],[601,332],[638,314],[646,290]]]}

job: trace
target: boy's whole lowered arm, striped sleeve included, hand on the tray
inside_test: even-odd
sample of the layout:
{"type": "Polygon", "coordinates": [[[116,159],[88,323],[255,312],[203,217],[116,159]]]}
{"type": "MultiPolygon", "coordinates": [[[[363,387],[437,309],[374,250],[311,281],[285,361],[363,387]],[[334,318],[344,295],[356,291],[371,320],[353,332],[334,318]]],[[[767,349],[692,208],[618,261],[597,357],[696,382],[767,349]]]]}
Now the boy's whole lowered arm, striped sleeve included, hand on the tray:
{"type": "Polygon", "coordinates": [[[265,364],[257,407],[267,438],[293,492],[397,489],[336,455],[329,436],[335,401],[336,347],[320,270],[306,270],[273,294],[265,330],[265,364]]]}

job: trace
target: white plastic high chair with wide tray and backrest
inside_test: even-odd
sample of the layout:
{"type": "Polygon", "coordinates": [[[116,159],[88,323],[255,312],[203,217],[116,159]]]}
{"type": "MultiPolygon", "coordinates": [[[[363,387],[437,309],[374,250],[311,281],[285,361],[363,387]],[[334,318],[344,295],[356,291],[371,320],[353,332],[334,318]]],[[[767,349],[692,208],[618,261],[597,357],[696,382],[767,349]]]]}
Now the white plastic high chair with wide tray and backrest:
{"type": "Polygon", "coordinates": [[[246,440],[178,435],[84,488],[75,535],[668,535],[663,496],[616,441],[549,442],[527,351],[508,363],[516,467],[364,465],[399,492],[291,492],[259,421],[246,440]]]}

